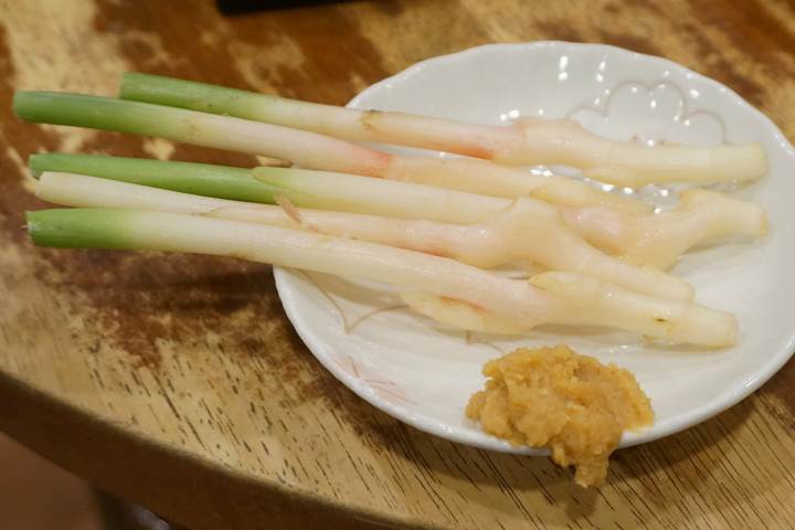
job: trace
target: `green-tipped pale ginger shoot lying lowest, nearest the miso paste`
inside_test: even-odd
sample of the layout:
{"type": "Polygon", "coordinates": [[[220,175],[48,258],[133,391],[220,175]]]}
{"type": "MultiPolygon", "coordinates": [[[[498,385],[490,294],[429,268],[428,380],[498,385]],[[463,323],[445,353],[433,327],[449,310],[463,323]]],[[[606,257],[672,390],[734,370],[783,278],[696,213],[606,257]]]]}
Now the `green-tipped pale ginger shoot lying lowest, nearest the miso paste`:
{"type": "Polygon", "coordinates": [[[720,348],[736,341],[733,316],[689,301],[629,293],[576,273],[508,279],[454,259],[312,232],[140,210],[28,212],[36,245],[231,256],[396,285],[444,303],[414,306],[464,329],[519,332],[541,324],[612,326],[675,342],[720,348]],[[447,300],[447,301],[445,301],[447,300]],[[467,307],[462,318],[460,307],[467,307]]]}

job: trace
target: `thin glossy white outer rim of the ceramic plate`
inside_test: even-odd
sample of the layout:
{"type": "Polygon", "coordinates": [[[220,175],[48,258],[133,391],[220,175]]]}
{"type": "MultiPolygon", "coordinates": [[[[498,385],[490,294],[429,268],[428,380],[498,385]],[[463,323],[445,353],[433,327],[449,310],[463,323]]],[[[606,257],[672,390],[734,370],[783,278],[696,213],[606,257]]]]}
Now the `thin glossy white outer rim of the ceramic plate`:
{"type": "MultiPolygon", "coordinates": [[[[610,44],[573,43],[565,41],[533,41],[520,43],[492,43],[474,46],[458,52],[428,57],[417,63],[414,63],[413,65],[404,68],[403,71],[368,86],[359,94],[357,94],[347,104],[347,107],[360,108],[359,105],[361,99],[363,99],[371,92],[382,89],[385,85],[390,85],[392,83],[405,81],[406,78],[422,72],[428,65],[433,65],[434,63],[448,61],[458,62],[467,59],[470,55],[477,55],[488,52],[499,52],[502,50],[531,51],[533,49],[543,47],[604,50],[605,52],[629,55],[634,60],[639,59],[643,61],[656,62],[658,64],[662,64],[668,68],[676,68],[686,76],[688,76],[688,78],[696,80],[699,83],[711,85],[719,92],[727,94],[728,97],[731,98],[731,103],[733,105],[740,105],[746,112],[751,110],[754,115],[754,118],[760,120],[771,134],[771,139],[775,144],[777,144],[780,148],[783,149],[784,153],[789,157],[795,165],[795,147],[793,147],[793,145],[784,136],[781,129],[767,115],[748,103],[732,88],[671,60],[656,55],[638,53],[610,44]]],[[[353,391],[359,398],[363,399],[371,405],[375,406],[377,409],[385,412],[390,416],[401,422],[404,422],[424,433],[432,434],[434,436],[442,437],[451,442],[460,443],[481,449],[496,451],[500,453],[512,453],[522,455],[549,454],[548,451],[543,448],[511,445],[510,443],[491,436],[483,431],[478,433],[478,435],[466,432],[460,433],[455,428],[451,428],[451,426],[446,423],[439,422],[438,420],[435,420],[422,413],[410,412],[399,404],[379,398],[372,388],[364,384],[360,379],[347,373],[344,370],[341,369],[341,367],[330,360],[330,357],[327,353],[327,351],[329,350],[328,344],[325,344],[317,337],[316,333],[311,332],[311,324],[305,321],[304,317],[301,317],[301,315],[299,315],[299,312],[296,310],[295,298],[293,296],[294,293],[287,285],[288,277],[294,274],[293,269],[274,266],[273,274],[276,290],[282,301],[282,306],[284,307],[287,318],[290,320],[290,324],[293,325],[300,339],[307,346],[312,356],[324,365],[324,368],[326,368],[326,370],[328,370],[338,381],[340,381],[342,384],[348,386],[348,389],[353,391]],[[324,354],[320,354],[318,352],[324,352],[324,354]],[[436,430],[436,432],[434,432],[434,428],[436,430]],[[441,436],[439,432],[444,432],[444,436],[441,436]]],[[[770,361],[765,363],[761,370],[754,372],[753,375],[743,380],[741,383],[732,386],[720,396],[704,402],[688,414],[674,416],[661,422],[655,422],[651,426],[640,431],[625,432],[618,445],[618,448],[646,444],[670,436],[672,434],[679,433],[700,423],[703,423],[704,421],[714,417],[722,412],[725,412],[727,410],[731,409],[740,401],[744,400],[753,392],[759,390],[776,372],[778,372],[784,367],[784,364],[786,364],[786,362],[793,357],[793,354],[795,354],[795,326],[789,333],[786,346],[783,347],[780,351],[776,351],[771,357],[770,361]]],[[[465,403],[462,403],[462,413],[464,411],[464,404],[465,403]]]]}

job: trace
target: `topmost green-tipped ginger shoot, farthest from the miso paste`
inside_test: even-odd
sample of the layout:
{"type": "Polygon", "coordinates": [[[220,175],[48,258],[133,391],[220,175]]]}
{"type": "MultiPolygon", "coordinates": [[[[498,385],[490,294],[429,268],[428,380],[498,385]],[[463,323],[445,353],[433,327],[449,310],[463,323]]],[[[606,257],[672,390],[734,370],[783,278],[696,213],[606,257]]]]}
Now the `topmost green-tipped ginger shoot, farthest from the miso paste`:
{"type": "Polygon", "coordinates": [[[127,73],[121,97],[230,114],[357,141],[456,152],[506,165],[565,165],[617,186],[731,182],[761,178],[759,144],[692,147],[617,141],[566,119],[524,118],[486,126],[394,112],[358,110],[155,75],[127,73]]]}

